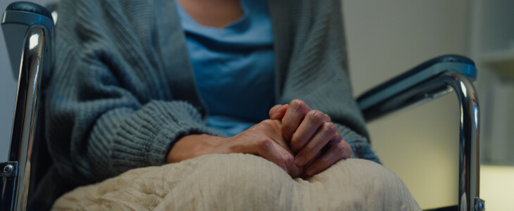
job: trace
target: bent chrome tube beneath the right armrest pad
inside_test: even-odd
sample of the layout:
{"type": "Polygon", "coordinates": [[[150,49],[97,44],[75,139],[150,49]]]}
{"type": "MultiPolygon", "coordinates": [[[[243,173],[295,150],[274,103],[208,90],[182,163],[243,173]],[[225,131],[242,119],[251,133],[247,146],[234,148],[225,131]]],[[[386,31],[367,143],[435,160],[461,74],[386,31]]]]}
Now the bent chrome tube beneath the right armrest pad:
{"type": "Polygon", "coordinates": [[[484,210],[479,198],[479,106],[475,87],[458,72],[444,72],[363,110],[375,120],[406,106],[456,91],[460,105],[458,210],[484,210]]]}

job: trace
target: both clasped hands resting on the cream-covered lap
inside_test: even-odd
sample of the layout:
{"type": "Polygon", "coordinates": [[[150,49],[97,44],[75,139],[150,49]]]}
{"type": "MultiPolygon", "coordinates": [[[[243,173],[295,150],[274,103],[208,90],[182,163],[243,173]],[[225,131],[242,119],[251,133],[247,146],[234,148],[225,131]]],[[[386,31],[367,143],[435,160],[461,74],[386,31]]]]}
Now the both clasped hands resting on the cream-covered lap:
{"type": "Polygon", "coordinates": [[[301,100],[270,109],[270,119],[229,138],[206,134],[184,136],[170,149],[166,162],[211,153],[249,153],[275,163],[291,177],[310,177],[353,151],[328,115],[301,100]]]}

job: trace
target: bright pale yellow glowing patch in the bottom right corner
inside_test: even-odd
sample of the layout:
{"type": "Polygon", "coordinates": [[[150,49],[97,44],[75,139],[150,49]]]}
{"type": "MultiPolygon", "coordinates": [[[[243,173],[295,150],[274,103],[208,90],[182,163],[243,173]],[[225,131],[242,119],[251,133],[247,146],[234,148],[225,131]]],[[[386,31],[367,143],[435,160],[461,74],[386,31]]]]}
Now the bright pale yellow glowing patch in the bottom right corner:
{"type": "Polygon", "coordinates": [[[512,210],[514,166],[480,166],[480,198],[487,210],[512,210]]]}

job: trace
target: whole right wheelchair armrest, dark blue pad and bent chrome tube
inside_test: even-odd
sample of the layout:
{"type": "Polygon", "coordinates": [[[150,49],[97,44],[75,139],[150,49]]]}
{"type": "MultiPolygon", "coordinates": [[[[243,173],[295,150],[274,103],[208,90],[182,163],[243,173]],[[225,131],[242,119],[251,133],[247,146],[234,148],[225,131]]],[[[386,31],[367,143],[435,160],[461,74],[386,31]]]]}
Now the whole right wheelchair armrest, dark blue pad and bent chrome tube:
{"type": "Polygon", "coordinates": [[[456,91],[460,105],[458,210],[484,210],[479,198],[479,106],[475,63],[463,56],[428,60],[358,97],[367,122],[406,106],[456,91]],[[461,177],[462,176],[462,177],[461,177]],[[464,179],[462,179],[464,178],[464,179]]]}

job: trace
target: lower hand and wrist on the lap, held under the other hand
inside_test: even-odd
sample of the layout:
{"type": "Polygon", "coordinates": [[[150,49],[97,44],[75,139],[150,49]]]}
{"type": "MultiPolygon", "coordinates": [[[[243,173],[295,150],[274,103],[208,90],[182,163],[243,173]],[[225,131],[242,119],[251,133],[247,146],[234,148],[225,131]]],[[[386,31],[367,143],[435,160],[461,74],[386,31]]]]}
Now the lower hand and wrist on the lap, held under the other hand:
{"type": "Polygon", "coordinates": [[[230,138],[206,134],[184,136],[171,148],[166,162],[180,162],[213,153],[245,153],[275,163],[293,178],[300,177],[301,170],[294,164],[294,155],[282,138],[281,124],[279,120],[264,120],[230,138]]]}

